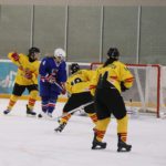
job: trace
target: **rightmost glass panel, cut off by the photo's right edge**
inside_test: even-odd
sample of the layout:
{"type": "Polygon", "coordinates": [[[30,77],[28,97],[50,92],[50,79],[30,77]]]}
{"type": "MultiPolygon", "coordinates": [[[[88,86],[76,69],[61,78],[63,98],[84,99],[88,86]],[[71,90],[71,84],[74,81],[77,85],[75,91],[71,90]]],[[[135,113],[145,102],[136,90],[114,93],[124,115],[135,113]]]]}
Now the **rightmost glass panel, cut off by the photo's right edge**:
{"type": "Polygon", "coordinates": [[[166,7],[142,7],[141,63],[166,65],[166,7]]]}

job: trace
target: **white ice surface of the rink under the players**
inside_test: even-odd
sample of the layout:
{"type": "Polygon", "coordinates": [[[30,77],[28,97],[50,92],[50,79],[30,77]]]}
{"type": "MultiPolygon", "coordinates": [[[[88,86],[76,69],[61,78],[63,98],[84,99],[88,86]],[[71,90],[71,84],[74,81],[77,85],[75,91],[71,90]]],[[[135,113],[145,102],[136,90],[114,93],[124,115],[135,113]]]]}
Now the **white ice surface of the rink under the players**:
{"type": "MultiPolygon", "coordinates": [[[[104,141],[107,148],[92,151],[93,124],[73,115],[62,133],[58,122],[25,116],[27,101],[19,101],[11,115],[2,115],[8,100],[0,98],[0,166],[166,166],[166,120],[131,118],[129,153],[117,153],[116,122],[112,120],[104,141]]],[[[64,104],[58,103],[54,116],[64,104]]],[[[40,112],[40,102],[35,111],[40,112]]]]}

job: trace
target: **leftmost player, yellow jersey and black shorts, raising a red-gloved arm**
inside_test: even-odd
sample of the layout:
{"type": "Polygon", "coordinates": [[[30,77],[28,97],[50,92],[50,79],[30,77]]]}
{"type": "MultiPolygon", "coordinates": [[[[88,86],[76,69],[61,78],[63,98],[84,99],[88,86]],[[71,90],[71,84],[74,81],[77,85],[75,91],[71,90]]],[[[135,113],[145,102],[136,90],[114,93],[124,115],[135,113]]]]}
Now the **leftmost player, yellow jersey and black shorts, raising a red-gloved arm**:
{"type": "Polygon", "coordinates": [[[18,54],[17,52],[10,52],[8,58],[18,66],[18,73],[14,80],[14,87],[7,110],[3,112],[8,114],[22,95],[25,89],[29,91],[29,102],[27,104],[27,114],[35,116],[33,106],[38,96],[38,75],[39,75],[39,55],[40,50],[38,48],[31,48],[29,54],[18,54]]]}

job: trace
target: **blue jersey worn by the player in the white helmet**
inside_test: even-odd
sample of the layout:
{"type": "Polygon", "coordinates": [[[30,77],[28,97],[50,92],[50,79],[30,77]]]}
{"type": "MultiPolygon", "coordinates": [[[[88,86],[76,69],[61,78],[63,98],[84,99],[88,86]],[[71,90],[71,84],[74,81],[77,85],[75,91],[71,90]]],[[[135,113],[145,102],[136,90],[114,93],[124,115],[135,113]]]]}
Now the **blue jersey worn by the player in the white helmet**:
{"type": "Polygon", "coordinates": [[[40,69],[40,95],[41,96],[50,96],[50,95],[59,95],[61,93],[60,86],[61,83],[66,81],[66,63],[62,61],[61,63],[56,63],[54,58],[44,58],[41,61],[40,69]],[[46,81],[46,77],[52,75],[56,83],[50,83],[46,81]]]}

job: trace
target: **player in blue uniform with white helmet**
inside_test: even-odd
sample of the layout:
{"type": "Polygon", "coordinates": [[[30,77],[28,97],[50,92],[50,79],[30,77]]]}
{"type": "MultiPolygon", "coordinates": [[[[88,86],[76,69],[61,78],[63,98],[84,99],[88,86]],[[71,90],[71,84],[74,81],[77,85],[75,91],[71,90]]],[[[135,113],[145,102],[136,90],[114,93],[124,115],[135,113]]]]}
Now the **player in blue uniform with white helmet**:
{"type": "Polygon", "coordinates": [[[46,56],[41,61],[40,69],[40,96],[42,112],[39,117],[50,116],[55,108],[58,96],[65,94],[66,81],[65,51],[55,49],[53,56],[46,56]]]}

